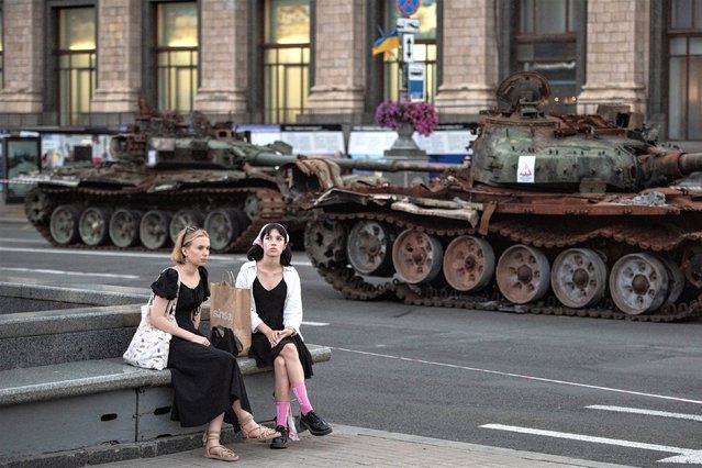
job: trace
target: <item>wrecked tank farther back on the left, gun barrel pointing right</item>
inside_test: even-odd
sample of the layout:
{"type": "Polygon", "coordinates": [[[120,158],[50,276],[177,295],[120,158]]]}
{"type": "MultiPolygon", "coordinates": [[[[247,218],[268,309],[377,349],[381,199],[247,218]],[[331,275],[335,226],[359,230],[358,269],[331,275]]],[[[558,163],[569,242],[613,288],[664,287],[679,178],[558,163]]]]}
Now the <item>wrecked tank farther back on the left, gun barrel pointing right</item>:
{"type": "Polygon", "coordinates": [[[271,221],[301,239],[307,213],[297,199],[354,177],[377,179],[343,175],[344,168],[405,170],[401,163],[296,157],[282,142],[254,145],[231,127],[198,113],[186,124],[142,103],[137,123],[111,140],[113,160],[29,178],[36,187],[25,197],[27,219],[59,247],[160,249],[191,225],[209,232],[214,252],[246,252],[271,221]]]}

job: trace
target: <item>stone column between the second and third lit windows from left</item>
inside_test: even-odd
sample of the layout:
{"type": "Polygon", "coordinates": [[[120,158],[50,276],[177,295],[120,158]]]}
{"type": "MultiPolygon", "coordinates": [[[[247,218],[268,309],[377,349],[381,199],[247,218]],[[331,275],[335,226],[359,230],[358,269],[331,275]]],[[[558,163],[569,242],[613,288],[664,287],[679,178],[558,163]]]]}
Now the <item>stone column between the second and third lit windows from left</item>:
{"type": "Polygon", "coordinates": [[[200,88],[193,108],[244,114],[247,92],[247,2],[201,0],[200,88]]]}

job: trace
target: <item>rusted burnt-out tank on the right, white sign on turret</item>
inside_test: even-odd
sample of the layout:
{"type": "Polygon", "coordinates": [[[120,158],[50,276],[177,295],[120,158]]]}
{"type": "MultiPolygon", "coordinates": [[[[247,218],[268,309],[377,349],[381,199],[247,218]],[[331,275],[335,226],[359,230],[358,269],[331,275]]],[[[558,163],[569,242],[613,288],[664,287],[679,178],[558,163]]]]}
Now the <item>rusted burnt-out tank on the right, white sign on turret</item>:
{"type": "Polygon", "coordinates": [[[470,168],[445,172],[437,187],[319,197],[304,243],[320,275],[354,300],[700,316],[702,154],[658,145],[616,108],[546,115],[549,92],[536,73],[505,79],[470,168]]]}

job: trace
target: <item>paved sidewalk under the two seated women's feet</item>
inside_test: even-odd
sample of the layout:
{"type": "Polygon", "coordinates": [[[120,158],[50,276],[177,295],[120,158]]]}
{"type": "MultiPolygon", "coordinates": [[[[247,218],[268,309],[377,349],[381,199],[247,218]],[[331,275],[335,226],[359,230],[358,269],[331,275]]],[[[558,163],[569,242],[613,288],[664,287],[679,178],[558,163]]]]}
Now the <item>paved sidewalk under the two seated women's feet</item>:
{"type": "MultiPolygon", "coordinates": [[[[115,461],[100,467],[597,467],[614,468],[622,465],[599,464],[573,458],[557,457],[532,452],[460,442],[441,441],[361,427],[333,425],[334,432],[324,437],[300,434],[299,442],[289,442],[288,448],[271,450],[268,444],[235,442],[226,446],[239,455],[229,465],[202,457],[203,449],[163,455],[155,458],[115,461]]],[[[94,466],[94,465],[93,465],[94,466]]]]}

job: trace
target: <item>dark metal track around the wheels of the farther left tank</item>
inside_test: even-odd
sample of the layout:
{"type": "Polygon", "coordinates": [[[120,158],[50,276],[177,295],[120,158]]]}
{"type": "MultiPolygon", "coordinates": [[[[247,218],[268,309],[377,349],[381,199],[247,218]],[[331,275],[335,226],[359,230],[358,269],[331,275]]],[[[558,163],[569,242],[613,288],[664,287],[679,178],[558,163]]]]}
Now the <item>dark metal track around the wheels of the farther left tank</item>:
{"type": "MultiPolygon", "coordinates": [[[[82,200],[89,197],[91,200],[94,200],[94,203],[110,203],[114,202],[114,204],[119,204],[119,201],[125,196],[124,192],[115,193],[114,191],[109,190],[94,190],[94,189],[82,189],[82,188],[42,188],[42,193],[47,196],[49,199],[55,197],[59,198],[60,202],[53,202],[44,204],[41,209],[41,212],[37,213],[34,218],[38,220],[45,220],[45,222],[33,222],[32,224],[38,231],[38,233],[54,247],[60,248],[79,248],[79,249],[90,249],[90,250],[145,250],[145,252],[164,252],[170,250],[171,247],[164,247],[160,249],[149,249],[144,247],[143,245],[135,245],[132,247],[118,247],[114,245],[99,245],[91,246],[86,244],[69,244],[64,245],[57,243],[52,236],[49,230],[49,222],[52,215],[52,210],[60,203],[65,202],[82,202],[82,200]]],[[[221,253],[241,253],[246,252],[252,245],[254,237],[258,234],[260,229],[270,222],[279,222],[283,219],[286,214],[286,202],[282,198],[282,194],[277,190],[266,189],[266,188],[191,188],[191,189],[182,189],[178,190],[176,193],[168,194],[169,200],[171,202],[182,202],[183,207],[192,203],[193,198],[207,197],[211,194],[226,194],[226,193],[237,193],[244,197],[248,194],[255,194],[258,199],[258,216],[254,220],[250,220],[250,223],[247,227],[236,237],[234,238],[225,248],[220,250],[221,253]]],[[[93,204],[94,204],[93,203],[93,204]]]]}

